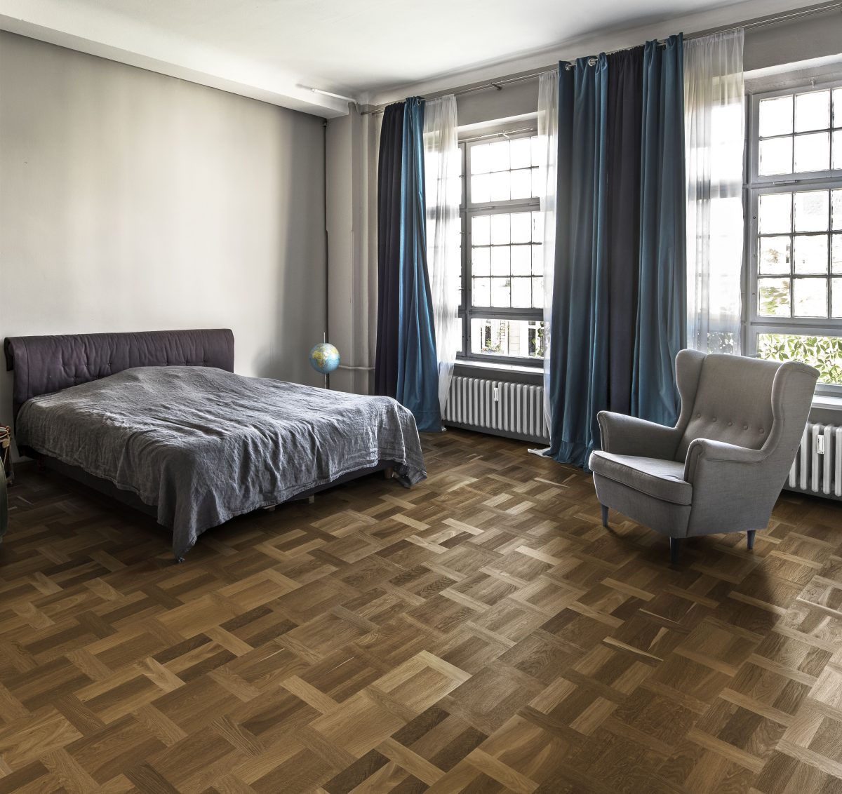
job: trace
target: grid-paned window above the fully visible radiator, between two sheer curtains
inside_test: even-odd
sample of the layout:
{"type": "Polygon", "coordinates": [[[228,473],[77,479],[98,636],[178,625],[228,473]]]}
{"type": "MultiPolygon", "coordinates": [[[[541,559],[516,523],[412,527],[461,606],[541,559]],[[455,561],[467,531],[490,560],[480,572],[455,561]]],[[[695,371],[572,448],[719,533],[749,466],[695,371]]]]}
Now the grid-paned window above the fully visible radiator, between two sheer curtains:
{"type": "Polygon", "coordinates": [[[520,130],[461,144],[463,358],[534,365],[543,360],[537,141],[535,131],[520,130]]]}

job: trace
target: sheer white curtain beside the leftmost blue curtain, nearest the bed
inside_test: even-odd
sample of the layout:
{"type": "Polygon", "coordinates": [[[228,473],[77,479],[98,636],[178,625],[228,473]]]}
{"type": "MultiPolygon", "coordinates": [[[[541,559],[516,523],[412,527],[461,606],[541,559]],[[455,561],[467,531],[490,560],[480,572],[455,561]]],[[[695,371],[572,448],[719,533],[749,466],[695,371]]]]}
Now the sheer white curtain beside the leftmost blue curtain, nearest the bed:
{"type": "Polygon", "coordinates": [[[459,349],[459,202],[461,156],[456,97],[450,93],[424,106],[424,192],[427,202],[427,267],[433,298],[435,349],[439,356],[439,404],[445,411],[459,349]]]}

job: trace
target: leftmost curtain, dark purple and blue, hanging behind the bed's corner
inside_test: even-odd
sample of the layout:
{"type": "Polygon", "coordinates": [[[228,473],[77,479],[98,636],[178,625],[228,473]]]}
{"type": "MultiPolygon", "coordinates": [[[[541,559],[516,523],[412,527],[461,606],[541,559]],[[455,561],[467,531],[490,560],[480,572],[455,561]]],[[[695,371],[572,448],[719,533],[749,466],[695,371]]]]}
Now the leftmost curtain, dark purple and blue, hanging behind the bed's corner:
{"type": "Polygon", "coordinates": [[[418,430],[440,431],[425,241],[424,99],[411,97],[386,108],[380,163],[376,388],[409,408],[418,430]]]}

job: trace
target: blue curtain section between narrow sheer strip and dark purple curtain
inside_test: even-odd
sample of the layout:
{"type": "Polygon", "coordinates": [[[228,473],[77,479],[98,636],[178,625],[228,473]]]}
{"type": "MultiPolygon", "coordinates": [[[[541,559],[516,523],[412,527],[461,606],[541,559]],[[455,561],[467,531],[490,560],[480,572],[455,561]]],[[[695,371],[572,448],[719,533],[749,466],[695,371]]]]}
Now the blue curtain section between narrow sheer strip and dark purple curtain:
{"type": "Polygon", "coordinates": [[[550,448],[585,466],[608,407],[606,110],[608,61],[559,65],[556,266],[550,317],[550,448]]]}

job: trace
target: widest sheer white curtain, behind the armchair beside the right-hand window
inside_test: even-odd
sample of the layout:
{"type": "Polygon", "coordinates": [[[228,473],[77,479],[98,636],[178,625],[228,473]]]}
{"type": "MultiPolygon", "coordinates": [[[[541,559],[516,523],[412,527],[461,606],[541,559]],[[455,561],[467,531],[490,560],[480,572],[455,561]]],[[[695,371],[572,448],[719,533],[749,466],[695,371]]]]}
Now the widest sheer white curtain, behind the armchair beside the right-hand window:
{"type": "Polygon", "coordinates": [[[685,40],[687,344],[740,352],[743,31],[685,40]]]}

